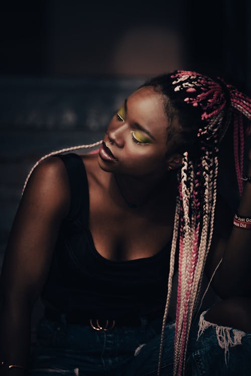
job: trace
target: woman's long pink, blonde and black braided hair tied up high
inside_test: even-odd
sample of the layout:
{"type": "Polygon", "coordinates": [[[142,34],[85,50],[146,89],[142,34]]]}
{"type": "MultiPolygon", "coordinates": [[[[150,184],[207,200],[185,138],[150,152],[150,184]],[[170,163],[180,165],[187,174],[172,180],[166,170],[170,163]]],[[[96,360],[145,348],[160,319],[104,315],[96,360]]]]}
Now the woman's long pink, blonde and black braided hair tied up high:
{"type": "Polygon", "coordinates": [[[184,371],[189,331],[200,299],[202,276],[213,234],[218,146],[232,124],[235,170],[241,194],[243,188],[239,178],[243,172],[243,117],[251,119],[251,99],[235,87],[225,84],[221,78],[213,80],[192,71],[177,70],[163,74],[143,86],[153,86],[165,96],[165,112],[169,119],[167,155],[174,152],[183,154],[183,166],[178,172],[179,189],[158,366],[160,375],[175,253],[178,249],[173,374],[180,376],[184,371]],[[175,117],[179,120],[180,128],[173,126],[175,117]]]}

